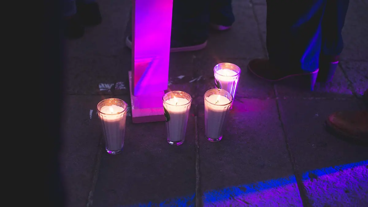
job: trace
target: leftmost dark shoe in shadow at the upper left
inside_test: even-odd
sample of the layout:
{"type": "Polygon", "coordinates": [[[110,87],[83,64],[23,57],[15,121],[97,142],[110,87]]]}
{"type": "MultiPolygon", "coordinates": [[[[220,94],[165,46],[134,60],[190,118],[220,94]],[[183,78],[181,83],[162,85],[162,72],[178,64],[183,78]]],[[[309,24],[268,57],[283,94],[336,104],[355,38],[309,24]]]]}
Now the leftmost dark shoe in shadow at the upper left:
{"type": "Polygon", "coordinates": [[[77,14],[64,20],[64,34],[67,39],[78,39],[84,35],[84,27],[77,14]]]}

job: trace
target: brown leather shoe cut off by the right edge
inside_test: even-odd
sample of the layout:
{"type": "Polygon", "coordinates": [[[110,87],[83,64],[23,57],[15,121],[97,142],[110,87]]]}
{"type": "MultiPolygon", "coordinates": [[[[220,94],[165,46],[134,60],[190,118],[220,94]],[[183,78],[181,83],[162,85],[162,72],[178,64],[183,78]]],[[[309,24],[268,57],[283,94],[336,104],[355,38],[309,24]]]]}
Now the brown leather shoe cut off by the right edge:
{"type": "Polygon", "coordinates": [[[348,141],[368,144],[368,112],[335,112],[328,116],[326,127],[348,141]]]}

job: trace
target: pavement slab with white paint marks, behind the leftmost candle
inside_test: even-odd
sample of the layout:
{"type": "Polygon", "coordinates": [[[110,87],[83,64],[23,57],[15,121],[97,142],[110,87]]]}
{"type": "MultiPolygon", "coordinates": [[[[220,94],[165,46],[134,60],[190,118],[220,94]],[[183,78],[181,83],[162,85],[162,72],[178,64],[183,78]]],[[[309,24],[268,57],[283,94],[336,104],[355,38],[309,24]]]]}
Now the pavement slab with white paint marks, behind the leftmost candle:
{"type": "Polygon", "coordinates": [[[129,94],[131,52],[121,57],[71,57],[66,61],[68,94],[111,94],[115,88],[129,94]],[[118,83],[118,84],[117,84],[118,83]]]}

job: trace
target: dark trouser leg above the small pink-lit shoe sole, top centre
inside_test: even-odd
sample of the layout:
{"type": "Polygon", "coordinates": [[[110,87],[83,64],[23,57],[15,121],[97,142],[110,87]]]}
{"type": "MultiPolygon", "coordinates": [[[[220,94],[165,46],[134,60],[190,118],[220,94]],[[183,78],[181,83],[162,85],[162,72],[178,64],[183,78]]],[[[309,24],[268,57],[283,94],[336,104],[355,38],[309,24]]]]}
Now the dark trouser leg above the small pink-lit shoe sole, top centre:
{"type": "Polygon", "coordinates": [[[231,0],[212,0],[209,5],[211,26],[218,30],[230,29],[235,21],[231,0]]]}

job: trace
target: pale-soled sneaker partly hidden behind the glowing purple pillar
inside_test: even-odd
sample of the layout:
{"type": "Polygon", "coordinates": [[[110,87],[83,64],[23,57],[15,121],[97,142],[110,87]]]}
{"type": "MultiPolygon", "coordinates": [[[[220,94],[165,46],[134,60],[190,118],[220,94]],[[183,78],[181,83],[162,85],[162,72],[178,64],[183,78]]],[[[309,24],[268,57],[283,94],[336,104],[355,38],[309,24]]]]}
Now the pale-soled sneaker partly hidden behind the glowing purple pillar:
{"type": "MultiPolygon", "coordinates": [[[[128,48],[132,49],[132,35],[127,36],[125,44],[128,48]]],[[[204,49],[207,45],[205,41],[193,41],[191,43],[182,43],[171,39],[170,52],[189,52],[204,49]]]]}

